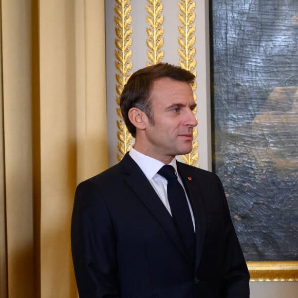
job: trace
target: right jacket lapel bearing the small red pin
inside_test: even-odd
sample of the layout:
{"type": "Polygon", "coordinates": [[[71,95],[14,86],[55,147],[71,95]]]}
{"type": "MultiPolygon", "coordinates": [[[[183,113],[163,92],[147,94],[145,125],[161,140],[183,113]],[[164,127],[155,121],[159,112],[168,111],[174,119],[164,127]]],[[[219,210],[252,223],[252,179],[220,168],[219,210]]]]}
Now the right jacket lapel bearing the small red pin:
{"type": "Polygon", "coordinates": [[[178,172],[182,179],[184,188],[188,194],[192,211],[195,218],[196,227],[196,255],[195,268],[197,269],[200,263],[202,248],[204,243],[204,235],[206,229],[206,212],[202,200],[202,193],[199,186],[199,181],[196,179],[195,171],[192,171],[190,166],[177,162],[178,172]]]}

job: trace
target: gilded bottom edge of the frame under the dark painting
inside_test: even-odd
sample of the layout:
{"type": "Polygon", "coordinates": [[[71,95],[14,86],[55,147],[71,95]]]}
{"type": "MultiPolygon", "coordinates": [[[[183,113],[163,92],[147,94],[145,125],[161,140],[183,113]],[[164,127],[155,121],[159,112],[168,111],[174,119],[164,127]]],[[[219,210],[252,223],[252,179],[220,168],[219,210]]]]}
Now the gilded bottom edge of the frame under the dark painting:
{"type": "Polygon", "coordinates": [[[298,261],[247,262],[251,282],[297,282],[298,261]]]}

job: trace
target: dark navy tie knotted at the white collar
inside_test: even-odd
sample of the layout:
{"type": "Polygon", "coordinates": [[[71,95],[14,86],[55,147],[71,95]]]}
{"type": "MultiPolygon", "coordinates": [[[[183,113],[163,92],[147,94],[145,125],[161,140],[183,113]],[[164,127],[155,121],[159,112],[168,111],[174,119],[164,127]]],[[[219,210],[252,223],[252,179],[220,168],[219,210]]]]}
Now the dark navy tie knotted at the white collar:
{"type": "Polygon", "coordinates": [[[167,180],[167,199],[176,228],[193,259],[195,254],[195,233],[187,197],[179,183],[172,165],[164,165],[158,174],[167,180]]]}

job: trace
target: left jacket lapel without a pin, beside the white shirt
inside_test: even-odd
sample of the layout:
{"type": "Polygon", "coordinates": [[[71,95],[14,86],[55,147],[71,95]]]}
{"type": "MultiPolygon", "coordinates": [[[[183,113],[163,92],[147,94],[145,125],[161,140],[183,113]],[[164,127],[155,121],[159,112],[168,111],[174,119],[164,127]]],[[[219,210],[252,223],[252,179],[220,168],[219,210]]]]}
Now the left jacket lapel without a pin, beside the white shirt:
{"type": "Polygon", "coordinates": [[[176,232],[172,216],[164,207],[162,201],[140,167],[128,154],[123,157],[121,163],[123,165],[124,172],[128,174],[125,180],[129,187],[132,188],[146,208],[153,214],[156,220],[159,221],[160,225],[167,234],[169,234],[174,244],[179,248],[184,257],[189,260],[184,245],[176,232]]]}

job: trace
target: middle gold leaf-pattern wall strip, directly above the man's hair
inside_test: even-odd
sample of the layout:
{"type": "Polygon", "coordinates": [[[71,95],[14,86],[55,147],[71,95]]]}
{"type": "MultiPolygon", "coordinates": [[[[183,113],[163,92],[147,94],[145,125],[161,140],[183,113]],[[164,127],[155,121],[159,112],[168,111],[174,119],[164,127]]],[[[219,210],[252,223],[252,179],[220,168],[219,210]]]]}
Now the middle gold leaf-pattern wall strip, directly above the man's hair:
{"type": "Polygon", "coordinates": [[[159,63],[162,61],[164,51],[161,50],[163,46],[163,27],[160,27],[163,23],[163,15],[160,15],[163,9],[161,0],[147,0],[146,11],[148,15],[146,20],[149,28],[146,28],[148,39],[146,40],[147,57],[150,62],[147,62],[147,66],[159,63]]]}

